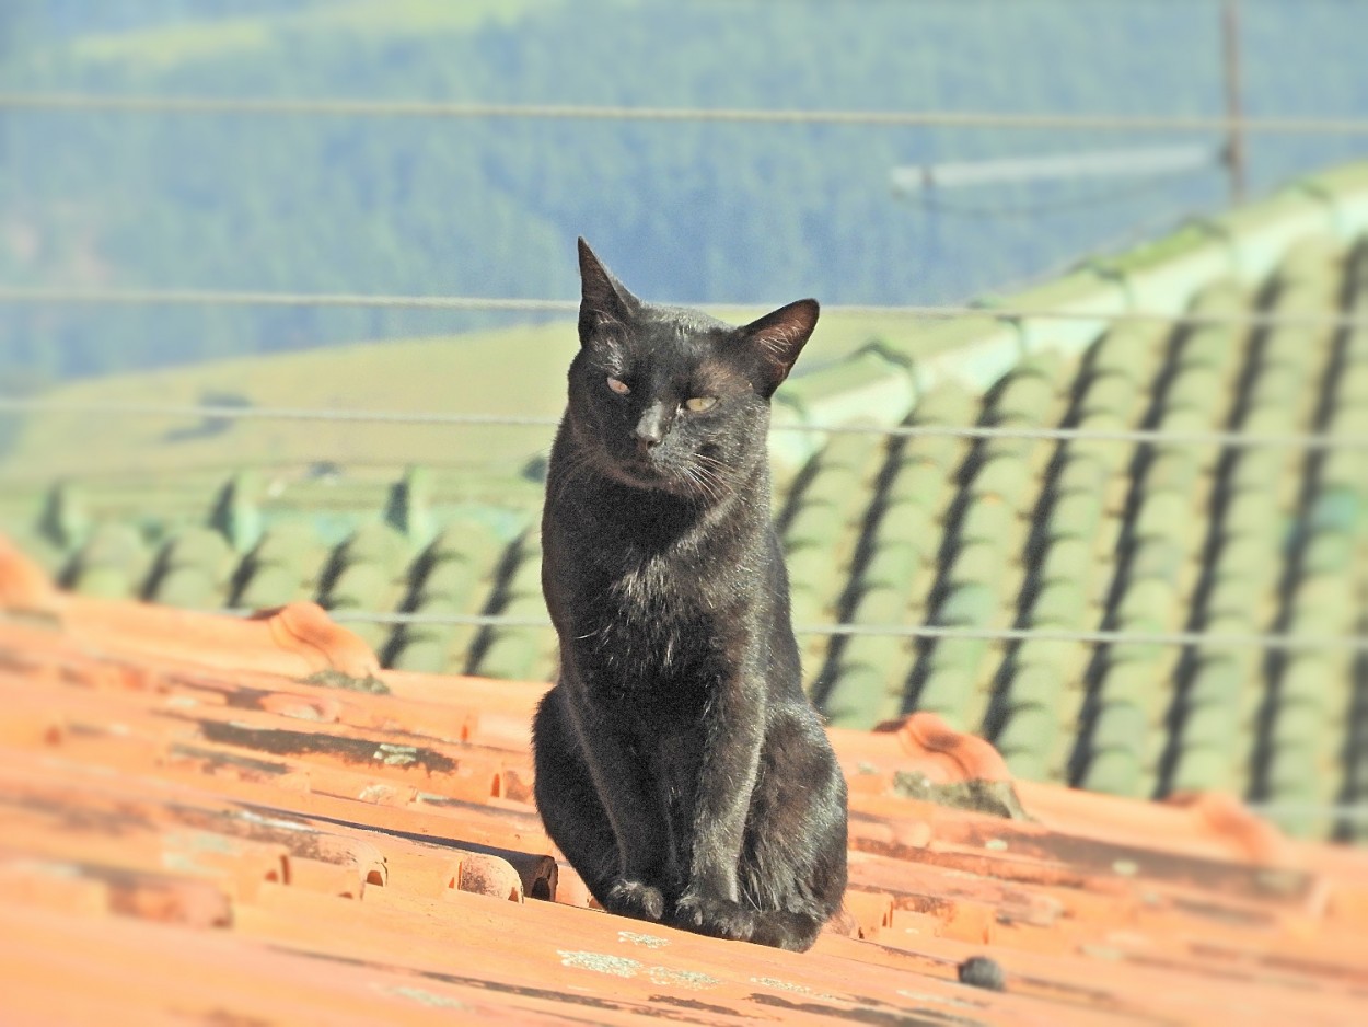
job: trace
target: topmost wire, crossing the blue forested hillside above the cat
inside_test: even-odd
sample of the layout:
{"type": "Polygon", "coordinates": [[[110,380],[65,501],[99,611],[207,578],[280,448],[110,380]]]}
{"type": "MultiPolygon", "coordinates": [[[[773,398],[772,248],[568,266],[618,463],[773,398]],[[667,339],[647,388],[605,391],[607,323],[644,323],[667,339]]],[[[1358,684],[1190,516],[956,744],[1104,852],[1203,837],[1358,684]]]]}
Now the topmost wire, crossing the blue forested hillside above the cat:
{"type": "Polygon", "coordinates": [[[1364,118],[1228,118],[1220,115],[1008,114],[1000,111],[824,111],[726,107],[613,107],[587,104],[492,104],[425,100],[242,99],[211,96],[100,96],[94,93],[0,93],[0,108],[103,114],[249,114],[347,118],[518,118],[544,121],[733,122],[744,125],[863,125],[1146,133],[1368,136],[1364,118]]]}

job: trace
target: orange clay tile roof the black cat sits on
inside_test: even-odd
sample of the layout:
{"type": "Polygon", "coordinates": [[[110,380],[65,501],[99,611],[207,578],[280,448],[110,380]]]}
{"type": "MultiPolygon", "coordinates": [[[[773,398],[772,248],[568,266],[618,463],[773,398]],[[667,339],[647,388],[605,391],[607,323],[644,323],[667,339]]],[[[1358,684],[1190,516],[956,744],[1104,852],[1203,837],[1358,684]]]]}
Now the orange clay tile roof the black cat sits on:
{"type": "Polygon", "coordinates": [[[1018,782],[929,713],[832,730],[843,923],[793,954],[588,909],[544,685],[384,671],[313,604],[73,597],[0,544],[0,1020],[1349,1024],[1368,854],[1215,796],[1018,782]],[[940,805],[959,796],[981,809],[940,805]],[[1005,990],[956,982],[986,956],[1005,990]]]}

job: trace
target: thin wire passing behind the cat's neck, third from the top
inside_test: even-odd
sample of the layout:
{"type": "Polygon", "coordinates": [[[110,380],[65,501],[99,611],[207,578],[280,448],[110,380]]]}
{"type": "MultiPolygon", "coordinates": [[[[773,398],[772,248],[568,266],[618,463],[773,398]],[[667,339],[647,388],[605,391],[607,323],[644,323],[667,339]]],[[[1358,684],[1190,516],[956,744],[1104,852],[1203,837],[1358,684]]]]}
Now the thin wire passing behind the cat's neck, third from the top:
{"type": "MultiPolygon", "coordinates": [[[[308,407],[228,407],[212,404],[85,403],[0,397],[4,414],[75,414],[97,416],[202,418],[222,420],[304,420],[376,424],[555,427],[560,418],[502,414],[450,414],[443,411],[319,409],[308,407]]],[[[1040,442],[1122,442],[1133,445],[1209,445],[1235,449],[1368,449],[1363,434],[1260,434],[1245,431],[1163,431],[1159,429],[1031,429],[981,424],[773,424],[772,431],[832,435],[884,435],[892,438],[963,438],[975,441],[1021,440],[1040,442]]]]}

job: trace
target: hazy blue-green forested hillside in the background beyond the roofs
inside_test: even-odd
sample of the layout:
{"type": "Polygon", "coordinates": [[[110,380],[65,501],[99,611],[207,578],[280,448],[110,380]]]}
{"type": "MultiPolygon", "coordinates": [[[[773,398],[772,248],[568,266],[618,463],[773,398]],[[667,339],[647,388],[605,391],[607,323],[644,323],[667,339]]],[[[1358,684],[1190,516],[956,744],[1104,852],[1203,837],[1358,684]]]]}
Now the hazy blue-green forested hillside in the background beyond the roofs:
{"type": "MultiPolygon", "coordinates": [[[[1360,4],[1246,0],[1244,11],[1250,112],[1368,110],[1360,4]]],[[[4,0],[0,18],[5,90],[1096,114],[1222,103],[1219,8],[1207,0],[4,0]]],[[[1144,137],[1156,140],[1171,141],[1144,137]]],[[[1211,208],[1223,178],[966,192],[929,210],[892,194],[892,167],[1137,141],[0,110],[0,279],[572,297],[583,233],[650,297],[960,300],[1211,208]]],[[[1256,138],[1253,185],[1364,145],[1256,138]]],[[[12,390],[472,323],[5,305],[0,379],[12,390]]]]}

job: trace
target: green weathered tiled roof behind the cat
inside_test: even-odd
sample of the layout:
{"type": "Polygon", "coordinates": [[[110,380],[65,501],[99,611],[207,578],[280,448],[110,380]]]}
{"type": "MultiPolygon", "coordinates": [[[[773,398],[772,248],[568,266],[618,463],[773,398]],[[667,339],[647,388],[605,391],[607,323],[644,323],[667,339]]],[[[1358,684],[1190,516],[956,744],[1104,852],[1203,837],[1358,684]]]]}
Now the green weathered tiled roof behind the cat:
{"type": "MultiPolygon", "coordinates": [[[[1109,319],[1368,315],[1365,233],[1368,166],[1342,168],[1004,300],[1015,316],[985,308],[791,379],[772,448],[795,620],[1368,633],[1368,330],[1109,319]],[[1077,316],[1019,316],[1031,309],[1077,316]],[[792,430],[804,424],[1324,431],[1357,448],[792,430]]],[[[427,623],[352,623],[384,665],[544,679],[554,635],[518,626],[544,620],[539,494],[517,494],[471,505],[458,479],[413,468],[280,498],[244,472],[213,500],[149,509],[138,482],[68,482],[41,507],[0,501],[0,526],[79,593],[408,612],[427,623]]],[[[993,741],[1019,778],[1137,797],[1222,789],[1295,834],[1368,838],[1368,817],[1330,812],[1368,801],[1361,650],[802,641],[836,724],[934,711],[993,741]]]]}

